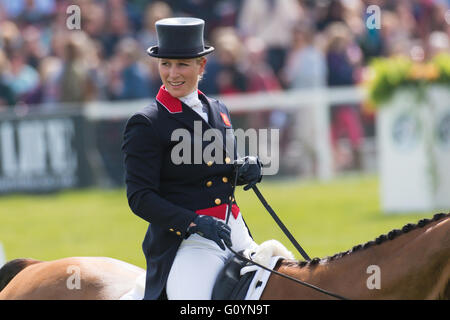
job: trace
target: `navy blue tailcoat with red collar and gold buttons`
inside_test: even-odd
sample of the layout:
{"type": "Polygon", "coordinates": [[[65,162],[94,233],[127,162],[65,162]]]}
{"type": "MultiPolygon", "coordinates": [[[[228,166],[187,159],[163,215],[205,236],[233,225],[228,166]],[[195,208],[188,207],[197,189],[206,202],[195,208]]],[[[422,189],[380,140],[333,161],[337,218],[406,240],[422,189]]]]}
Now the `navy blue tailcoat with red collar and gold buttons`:
{"type": "MultiPolygon", "coordinates": [[[[218,100],[200,91],[199,98],[208,109],[208,123],[161,87],[156,100],[134,114],[125,127],[122,150],[128,203],[137,216],[149,222],[142,244],[147,261],[144,299],[158,299],[164,292],[178,247],[196,215],[224,218],[231,199],[236,145],[234,136],[231,148],[226,143],[226,135],[233,135],[226,130],[232,129],[230,115],[218,100]],[[200,164],[194,163],[194,157],[198,162],[195,148],[197,153],[199,150],[198,137],[194,137],[195,121],[202,124],[202,132],[214,128],[221,133],[222,141],[200,141],[200,146],[202,151],[211,150],[214,142],[216,151],[223,151],[223,157],[217,152],[215,161],[202,159],[200,164]],[[180,140],[172,141],[176,129],[191,133],[191,163],[173,161],[173,156],[180,153],[176,149],[172,154],[180,146],[180,140]]],[[[232,208],[236,215],[239,208],[234,199],[232,208]]]]}

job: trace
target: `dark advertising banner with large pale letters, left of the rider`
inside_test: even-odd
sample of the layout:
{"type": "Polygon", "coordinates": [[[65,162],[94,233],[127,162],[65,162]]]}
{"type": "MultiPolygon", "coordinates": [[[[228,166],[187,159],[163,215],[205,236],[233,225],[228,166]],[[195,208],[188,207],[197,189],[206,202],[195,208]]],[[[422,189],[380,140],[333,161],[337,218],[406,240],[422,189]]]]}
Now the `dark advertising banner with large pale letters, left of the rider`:
{"type": "Polygon", "coordinates": [[[89,185],[85,121],[77,113],[0,117],[0,194],[89,185]]]}

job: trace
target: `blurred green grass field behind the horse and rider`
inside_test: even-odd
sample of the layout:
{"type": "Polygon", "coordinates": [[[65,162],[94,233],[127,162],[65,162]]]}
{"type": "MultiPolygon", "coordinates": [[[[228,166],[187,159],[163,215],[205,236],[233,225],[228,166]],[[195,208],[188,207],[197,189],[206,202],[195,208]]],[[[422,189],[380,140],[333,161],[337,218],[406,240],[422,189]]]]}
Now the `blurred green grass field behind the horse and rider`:
{"type": "MultiPolygon", "coordinates": [[[[259,189],[310,257],[347,250],[434,214],[382,213],[374,176],[327,183],[267,181],[259,189]]],[[[252,191],[239,188],[236,199],[256,242],[277,239],[301,258],[252,191]]],[[[0,197],[0,242],[7,259],[109,256],[145,267],[146,229],[128,208],[123,189],[0,197]]]]}

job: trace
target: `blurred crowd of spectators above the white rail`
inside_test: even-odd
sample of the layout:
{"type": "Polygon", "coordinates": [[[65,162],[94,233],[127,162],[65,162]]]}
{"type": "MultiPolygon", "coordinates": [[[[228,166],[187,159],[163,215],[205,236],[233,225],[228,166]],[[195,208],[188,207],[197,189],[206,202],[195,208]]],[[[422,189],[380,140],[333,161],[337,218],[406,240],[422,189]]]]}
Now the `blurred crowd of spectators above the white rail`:
{"type": "Polygon", "coordinates": [[[449,0],[0,0],[0,106],[154,96],[145,51],[172,16],[207,22],[216,51],[200,89],[211,95],[353,85],[372,57],[449,50],[449,0]]]}

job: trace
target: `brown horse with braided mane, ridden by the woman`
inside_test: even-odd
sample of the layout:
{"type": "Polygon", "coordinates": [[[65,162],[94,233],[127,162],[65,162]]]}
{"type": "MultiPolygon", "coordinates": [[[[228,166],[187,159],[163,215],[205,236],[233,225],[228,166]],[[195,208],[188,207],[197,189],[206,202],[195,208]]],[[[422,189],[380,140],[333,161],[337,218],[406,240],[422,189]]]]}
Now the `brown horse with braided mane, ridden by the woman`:
{"type": "MultiPolygon", "coordinates": [[[[450,214],[407,224],[330,257],[284,259],[276,270],[347,299],[450,300],[450,214]]],[[[112,258],[16,259],[0,269],[0,300],[116,300],[144,274],[112,258]],[[79,283],[72,281],[72,270],[79,283]]],[[[336,298],[272,274],[261,300],[291,299],[336,298]]]]}

